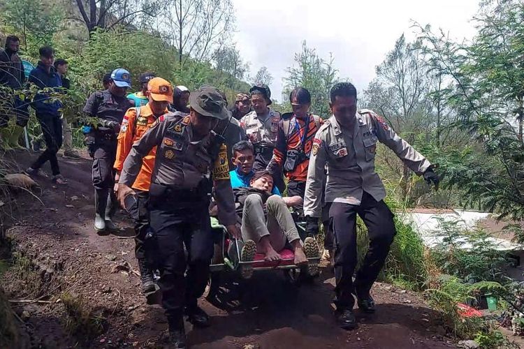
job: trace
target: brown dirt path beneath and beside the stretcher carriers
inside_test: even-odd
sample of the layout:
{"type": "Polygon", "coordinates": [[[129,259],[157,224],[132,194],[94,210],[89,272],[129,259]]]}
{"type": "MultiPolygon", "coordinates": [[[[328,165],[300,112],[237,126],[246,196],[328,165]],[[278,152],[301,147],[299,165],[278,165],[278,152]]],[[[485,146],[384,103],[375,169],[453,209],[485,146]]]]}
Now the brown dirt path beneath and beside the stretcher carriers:
{"type": "MultiPolygon", "coordinates": [[[[5,156],[22,169],[35,157],[24,151],[5,156]]],[[[50,179],[38,179],[43,205],[27,193],[18,194],[13,216],[21,218],[10,229],[18,248],[36,261],[40,277],[48,282],[38,295],[46,295],[43,299],[50,303],[17,308],[27,319],[32,343],[43,348],[75,346],[77,340],[64,330],[62,320],[60,297],[66,292],[82,297],[87,307],[108,318],[105,333],[85,343],[89,348],[163,348],[166,320],[159,306],[145,305],[140,296],[134,243],[126,238],[132,234],[129,223],[120,215],[119,223],[126,227],[121,236],[94,234],[90,162],[59,161],[69,184],[56,188],[50,179]]],[[[11,299],[36,297],[35,283],[21,281],[19,273],[10,270],[3,279],[11,299]]],[[[358,313],[358,329],[338,329],[330,308],[333,283],[333,273],[327,269],[314,284],[300,288],[286,283],[277,272],[256,274],[242,287],[223,276],[218,300],[229,304],[228,311],[202,300],[212,327],[193,330],[188,324],[189,343],[192,348],[453,347],[442,336],[437,315],[418,295],[386,284],[373,290],[376,315],[358,313]],[[238,302],[240,294],[242,302],[238,302]]]]}

